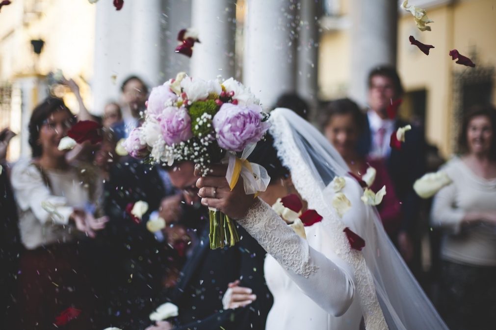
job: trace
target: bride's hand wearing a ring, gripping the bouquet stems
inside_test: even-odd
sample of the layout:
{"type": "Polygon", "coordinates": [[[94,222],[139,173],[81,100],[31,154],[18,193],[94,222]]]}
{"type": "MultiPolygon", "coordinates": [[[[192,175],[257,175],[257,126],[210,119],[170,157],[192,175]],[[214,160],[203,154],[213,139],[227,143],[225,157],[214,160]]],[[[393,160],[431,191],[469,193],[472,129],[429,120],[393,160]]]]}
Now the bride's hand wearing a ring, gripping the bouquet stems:
{"type": "MultiPolygon", "coordinates": [[[[211,165],[210,169],[207,176],[196,181],[198,195],[202,197],[201,203],[220,210],[232,219],[245,217],[256,199],[245,193],[243,178],[240,176],[231,190],[226,180],[227,165],[211,165]]],[[[200,175],[200,171],[195,168],[194,174],[200,175]]]]}

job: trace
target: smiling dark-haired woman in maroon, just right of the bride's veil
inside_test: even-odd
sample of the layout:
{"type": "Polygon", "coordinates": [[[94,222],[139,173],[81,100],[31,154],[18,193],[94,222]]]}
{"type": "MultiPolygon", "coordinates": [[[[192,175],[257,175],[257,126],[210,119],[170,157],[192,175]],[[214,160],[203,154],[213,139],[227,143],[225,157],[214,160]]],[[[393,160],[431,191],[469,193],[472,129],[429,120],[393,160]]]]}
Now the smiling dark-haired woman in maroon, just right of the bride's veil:
{"type": "Polygon", "coordinates": [[[365,125],[364,114],[349,98],[329,102],[321,113],[322,131],[343,157],[350,171],[361,178],[368,167],[376,170],[376,177],[370,189],[377,192],[383,186],[386,187],[387,193],[382,203],[377,205],[377,210],[388,236],[395,238],[400,227],[401,204],[385,164],[382,159],[366,158],[358,150],[358,141],[365,125]]]}

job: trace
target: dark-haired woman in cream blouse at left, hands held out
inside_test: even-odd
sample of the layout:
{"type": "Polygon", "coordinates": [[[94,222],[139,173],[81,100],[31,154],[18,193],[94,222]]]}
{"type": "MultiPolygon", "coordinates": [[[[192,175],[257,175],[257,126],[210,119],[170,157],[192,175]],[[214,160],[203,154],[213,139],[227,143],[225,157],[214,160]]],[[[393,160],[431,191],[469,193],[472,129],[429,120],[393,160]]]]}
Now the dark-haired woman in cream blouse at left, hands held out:
{"type": "MultiPolygon", "coordinates": [[[[29,121],[33,158],[12,169],[12,188],[19,209],[19,230],[26,251],[20,258],[19,310],[22,329],[55,329],[67,308],[70,329],[93,329],[94,294],[81,265],[78,239],[94,237],[106,217],[95,218],[98,199],[94,179],[67,162],[58,148],[74,123],[62,99],[49,97],[29,121]]],[[[61,323],[62,322],[62,323],[61,323]]]]}

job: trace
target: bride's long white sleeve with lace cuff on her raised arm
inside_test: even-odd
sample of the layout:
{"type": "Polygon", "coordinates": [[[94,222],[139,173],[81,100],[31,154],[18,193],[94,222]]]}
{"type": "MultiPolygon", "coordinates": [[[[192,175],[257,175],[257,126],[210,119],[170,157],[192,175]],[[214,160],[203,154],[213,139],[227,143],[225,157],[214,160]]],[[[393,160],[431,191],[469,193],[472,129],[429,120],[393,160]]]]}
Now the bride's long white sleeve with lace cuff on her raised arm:
{"type": "Polygon", "coordinates": [[[263,201],[257,200],[238,223],[286,269],[288,276],[327,313],[340,316],[353,301],[353,270],[309,246],[263,201]]]}

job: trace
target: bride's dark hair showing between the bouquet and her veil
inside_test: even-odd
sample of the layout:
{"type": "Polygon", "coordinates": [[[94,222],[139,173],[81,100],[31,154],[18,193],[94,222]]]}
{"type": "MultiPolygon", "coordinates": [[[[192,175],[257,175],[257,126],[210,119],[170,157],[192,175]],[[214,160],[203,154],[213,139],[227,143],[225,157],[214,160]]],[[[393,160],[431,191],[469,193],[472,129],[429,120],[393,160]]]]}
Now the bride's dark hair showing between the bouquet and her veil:
{"type": "Polygon", "coordinates": [[[274,138],[269,133],[265,135],[265,140],[256,143],[255,149],[248,156],[248,161],[265,167],[267,174],[270,176],[271,184],[278,179],[289,177],[290,172],[277,156],[274,138]]]}

